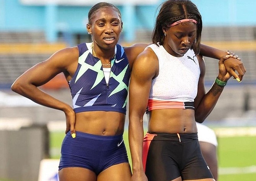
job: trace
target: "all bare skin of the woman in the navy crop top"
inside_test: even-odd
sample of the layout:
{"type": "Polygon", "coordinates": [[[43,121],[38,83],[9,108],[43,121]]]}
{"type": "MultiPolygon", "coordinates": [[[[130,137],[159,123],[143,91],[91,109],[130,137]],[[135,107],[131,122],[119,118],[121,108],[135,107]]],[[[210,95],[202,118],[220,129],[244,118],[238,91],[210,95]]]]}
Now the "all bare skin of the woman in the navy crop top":
{"type": "MultiPolygon", "coordinates": [[[[115,45],[119,40],[121,30],[121,18],[117,11],[111,7],[97,10],[93,14],[91,22],[87,24],[87,31],[93,38],[94,56],[99,58],[102,64],[109,63],[110,59],[113,57],[115,45]]],[[[129,47],[124,47],[130,68],[133,67],[135,58],[146,46],[147,44],[137,43],[129,47]]],[[[208,54],[208,56],[219,58],[223,54],[226,54],[224,51],[219,51],[217,49],[212,49],[211,51],[211,48],[207,46],[205,47],[205,49],[202,47],[202,52],[208,54]]],[[[66,116],[65,133],[70,130],[70,133],[74,138],[76,131],[105,136],[123,134],[125,124],[124,114],[112,111],[92,111],[75,114],[73,108],[69,106],[69,104],[53,98],[51,95],[48,95],[38,88],[38,86],[49,82],[61,72],[65,74],[67,82],[70,81],[78,67],[78,58],[79,50],[77,46],[59,50],[49,59],[31,67],[31,69],[27,70],[17,78],[11,86],[11,89],[38,104],[63,111],[66,116]],[[108,121],[106,122],[105,120],[108,121]]],[[[234,59],[235,61],[233,61],[232,59],[227,61],[227,67],[237,66],[237,69],[241,70],[242,64],[240,64],[240,61],[238,61],[239,64],[237,64],[237,60],[234,59]]],[[[110,66],[104,67],[107,68],[110,66]]],[[[85,168],[71,167],[63,168],[60,171],[61,181],[101,181],[108,180],[109,178],[111,178],[112,181],[126,181],[130,180],[130,177],[131,170],[129,163],[113,165],[97,176],[93,171],[85,168]]]]}

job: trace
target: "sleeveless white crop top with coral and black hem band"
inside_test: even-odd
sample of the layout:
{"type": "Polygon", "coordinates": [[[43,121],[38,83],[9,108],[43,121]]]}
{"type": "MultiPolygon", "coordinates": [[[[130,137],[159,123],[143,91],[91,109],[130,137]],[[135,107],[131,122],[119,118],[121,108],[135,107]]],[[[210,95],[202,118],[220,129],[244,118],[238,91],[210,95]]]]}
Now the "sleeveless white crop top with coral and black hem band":
{"type": "Polygon", "coordinates": [[[159,61],[159,74],[152,80],[147,111],[154,109],[194,109],[200,76],[193,50],[182,57],[169,54],[163,46],[149,45],[159,61]]]}

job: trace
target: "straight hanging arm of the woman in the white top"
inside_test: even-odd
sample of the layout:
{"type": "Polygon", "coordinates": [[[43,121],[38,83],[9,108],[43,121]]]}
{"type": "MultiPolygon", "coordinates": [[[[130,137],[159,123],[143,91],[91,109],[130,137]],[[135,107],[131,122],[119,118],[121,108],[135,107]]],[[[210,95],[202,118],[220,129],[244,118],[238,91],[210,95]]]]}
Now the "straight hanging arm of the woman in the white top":
{"type": "MultiPolygon", "coordinates": [[[[152,78],[156,75],[156,61],[150,56],[150,48],[139,54],[133,64],[129,86],[129,144],[133,181],[147,181],[143,169],[143,115],[146,111],[152,78]]],[[[152,54],[152,53],[151,53],[152,54]]]]}

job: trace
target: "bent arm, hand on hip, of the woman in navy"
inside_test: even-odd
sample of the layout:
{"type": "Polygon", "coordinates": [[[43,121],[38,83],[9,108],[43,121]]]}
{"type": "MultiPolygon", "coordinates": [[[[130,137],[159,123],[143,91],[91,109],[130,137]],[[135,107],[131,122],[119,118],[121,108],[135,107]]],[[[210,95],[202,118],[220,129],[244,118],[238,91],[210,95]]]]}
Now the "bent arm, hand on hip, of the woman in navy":
{"type": "Polygon", "coordinates": [[[72,107],[40,90],[38,86],[49,82],[61,72],[68,72],[72,65],[71,62],[78,59],[76,52],[76,48],[57,51],[49,59],[28,69],[11,85],[11,90],[35,103],[63,111],[66,115],[67,130],[70,129],[73,133],[75,132],[75,113],[72,107]]]}

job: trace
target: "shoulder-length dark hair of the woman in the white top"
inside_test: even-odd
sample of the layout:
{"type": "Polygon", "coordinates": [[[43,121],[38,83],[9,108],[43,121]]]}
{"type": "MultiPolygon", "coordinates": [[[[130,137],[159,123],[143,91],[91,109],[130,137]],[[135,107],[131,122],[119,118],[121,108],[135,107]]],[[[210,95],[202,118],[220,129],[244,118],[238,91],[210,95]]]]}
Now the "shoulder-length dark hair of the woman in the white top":
{"type": "Polygon", "coordinates": [[[200,52],[201,32],[202,32],[202,16],[198,8],[190,0],[167,0],[160,6],[159,13],[156,18],[154,31],[152,33],[152,42],[157,45],[164,44],[163,28],[170,28],[170,25],[181,19],[194,19],[196,24],[196,39],[191,45],[191,49],[196,54],[200,52]]]}

